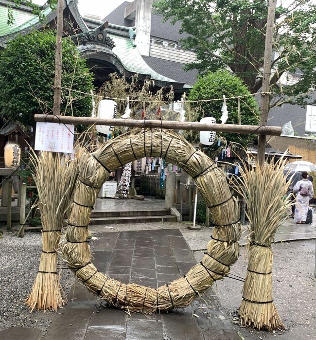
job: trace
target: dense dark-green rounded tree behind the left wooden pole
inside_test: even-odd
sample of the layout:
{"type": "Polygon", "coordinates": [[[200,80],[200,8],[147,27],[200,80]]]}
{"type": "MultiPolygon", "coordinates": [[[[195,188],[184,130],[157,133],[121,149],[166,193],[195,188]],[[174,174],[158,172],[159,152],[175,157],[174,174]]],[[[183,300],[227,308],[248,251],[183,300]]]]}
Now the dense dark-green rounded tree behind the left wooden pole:
{"type": "MultiPolygon", "coordinates": [[[[55,33],[34,31],[8,42],[0,56],[0,111],[5,120],[33,125],[33,115],[53,111],[55,33]]],[[[92,75],[76,47],[63,40],[61,112],[91,113],[92,75]],[[82,93],[81,93],[82,92],[82,93]]]]}

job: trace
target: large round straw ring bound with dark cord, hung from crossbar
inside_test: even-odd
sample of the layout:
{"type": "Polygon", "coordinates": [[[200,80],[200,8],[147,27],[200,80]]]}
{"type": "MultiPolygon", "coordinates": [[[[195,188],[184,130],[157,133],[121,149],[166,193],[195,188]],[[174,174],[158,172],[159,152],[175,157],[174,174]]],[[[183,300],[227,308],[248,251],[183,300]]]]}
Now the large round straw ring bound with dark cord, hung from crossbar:
{"type": "Polygon", "coordinates": [[[153,313],[186,307],[215,280],[223,279],[238,258],[241,225],[237,207],[224,172],[209,157],[196,151],[176,132],[138,130],[108,141],[93,155],[82,156],[65,235],[67,242],[62,247],[63,258],[89,291],[118,308],[153,313]],[[99,188],[111,171],[143,157],[164,158],[189,173],[216,224],[203,260],[184,277],[158,288],[126,285],[99,272],[90,262],[87,243],[89,216],[99,188]]]}

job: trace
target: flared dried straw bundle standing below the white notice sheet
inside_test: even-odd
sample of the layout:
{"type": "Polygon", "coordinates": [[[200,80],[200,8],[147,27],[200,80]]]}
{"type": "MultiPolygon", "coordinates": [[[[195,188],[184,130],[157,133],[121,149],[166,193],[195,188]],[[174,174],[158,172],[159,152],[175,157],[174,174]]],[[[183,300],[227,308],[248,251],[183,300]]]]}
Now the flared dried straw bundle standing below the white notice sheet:
{"type": "Polygon", "coordinates": [[[38,207],[43,228],[39,269],[31,294],[25,302],[32,311],[56,311],[59,306],[67,303],[57,273],[57,249],[78,173],[80,154],[78,150],[74,160],[52,152],[40,152],[38,157],[34,153],[31,156],[35,167],[33,178],[38,191],[38,207]]]}

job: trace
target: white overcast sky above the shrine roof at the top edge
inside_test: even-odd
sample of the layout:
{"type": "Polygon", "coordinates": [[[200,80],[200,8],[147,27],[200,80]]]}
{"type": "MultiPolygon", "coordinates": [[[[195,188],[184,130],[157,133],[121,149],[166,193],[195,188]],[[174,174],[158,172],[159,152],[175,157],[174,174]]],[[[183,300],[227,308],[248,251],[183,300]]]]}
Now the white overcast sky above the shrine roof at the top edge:
{"type": "MultiPolygon", "coordinates": [[[[78,7],[81,15],[92,14],[103,19],[124,1],[132,2],[132,0],[78,0],[78,7]]],[[[43,5],[46,0],[33,2],[43,5]]]]}

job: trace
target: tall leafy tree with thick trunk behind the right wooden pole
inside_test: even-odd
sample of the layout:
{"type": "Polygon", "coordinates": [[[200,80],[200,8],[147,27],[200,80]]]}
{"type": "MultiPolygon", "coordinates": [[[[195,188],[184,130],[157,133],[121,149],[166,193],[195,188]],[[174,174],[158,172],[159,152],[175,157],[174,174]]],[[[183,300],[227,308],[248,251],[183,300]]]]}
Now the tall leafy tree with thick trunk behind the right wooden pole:
{"type": "MultiPolygon", "coordinates": [[[[267,0],[160,0],[155,2],[164,19],[181,20],[182,33],[189,36],[182,46],[194,49],[195,63],[187,69],[214,72],[229,67],[243,79],[250,92],[262,86],[267,0]]],[[[313,0],[293,0],[288,8],[276,9],[275,58],[271,90],[276,100],[303,104],[316,85],[316,4],[313,0]],[[297,84],[281,87],[288,72],[302,72],[297,84]],[[298,97],[299,96],[299,97],[298,97]]]]}

